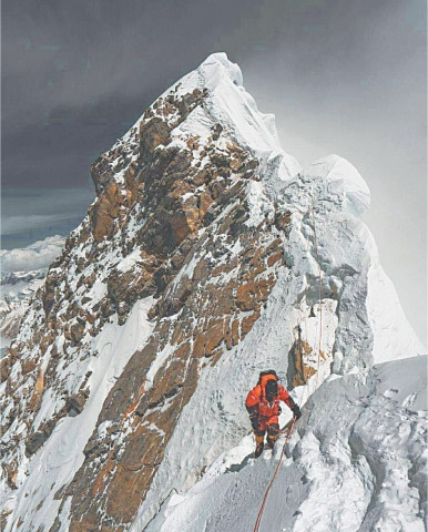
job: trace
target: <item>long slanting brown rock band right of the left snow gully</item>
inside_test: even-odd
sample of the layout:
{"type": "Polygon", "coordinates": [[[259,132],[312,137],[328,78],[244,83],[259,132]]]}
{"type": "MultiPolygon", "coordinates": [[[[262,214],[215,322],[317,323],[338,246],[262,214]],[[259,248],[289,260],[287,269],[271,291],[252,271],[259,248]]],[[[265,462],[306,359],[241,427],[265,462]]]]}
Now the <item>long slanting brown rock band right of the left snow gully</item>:
{"type": "MultiPolygon", "coordinates": [[[[237,215],[241,208],[237,201],[237,215]]],[[[281,241],[276,231],[259,227],[263,231],[253,233],[242,225],[242,252],[232,256],[230,245],[235,237],[230,227],[234,219],[230,212],[214,234],[194,244],[186,257],[187,264],[195,264],[193,275],[188,272],[187,276],[184,267],[180,282],[173,279],[166,286],[156,304],[161,319],[151,341],[132,357],[111,390],[99,424],[108,423],[109,430],[121,436],[109,448],[96,432],[88,442],[86,462],[70,490],[75,493],[72,513],[85,515],[85,521],[83,529],[73,521],[73,530],[95,526],[100,508],[112,522],[109,530],[119,530],[120,523],[132,520],[180,411],[197,386],[198,372],[227,357],[263,311],[282,264],[276,253],[281,241]],[[213,267],[215,255],[224,265],[213,267]],[[240,290],[242,286],[244,290],[240,290]],[[165,356],[149,388],[144,386],[147,371],[160,352],[171,355],[165,356]],[[132,431],[124,439],[128,427],[132,431]]]]}

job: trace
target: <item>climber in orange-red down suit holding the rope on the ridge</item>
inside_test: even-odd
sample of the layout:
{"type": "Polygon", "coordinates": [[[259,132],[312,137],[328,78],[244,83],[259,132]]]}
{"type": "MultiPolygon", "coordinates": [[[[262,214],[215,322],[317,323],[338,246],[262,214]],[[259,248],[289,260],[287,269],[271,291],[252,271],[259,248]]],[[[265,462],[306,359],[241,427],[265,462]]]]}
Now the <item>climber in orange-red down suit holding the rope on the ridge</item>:
{"type": "Polygon", "coordinates": [[[245,407],[249,413],[249,420],[256,438],[255,458],[258,458],[264,448],[265,433],[267,432],[267,446],[273,449],[279,436],[281,413],[279,401],[284,401],[293,411],[295,419],[300,416],[298,405],[293,400],[288,391],[278,383],[278,376],[272,369],[262,371],[257,386],[255,386],[245,400],[245,407]]]}

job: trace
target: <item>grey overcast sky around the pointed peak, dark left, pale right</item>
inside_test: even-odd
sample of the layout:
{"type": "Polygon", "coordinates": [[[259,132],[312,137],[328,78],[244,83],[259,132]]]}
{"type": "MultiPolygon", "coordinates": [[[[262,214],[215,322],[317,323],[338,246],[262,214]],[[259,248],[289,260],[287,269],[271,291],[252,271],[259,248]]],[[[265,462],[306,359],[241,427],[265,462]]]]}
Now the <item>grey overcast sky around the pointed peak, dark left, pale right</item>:
{"type": "Polygon", "coordinates": [[[427,332],[425,0],[2,2],[2,246],[63,234],[90,163],[160,93],[225,51],[285,151],[337,153],[371,191],[365,221],[427,332]],[[73,190],[73,191],[72,191],[73,190]]]}

